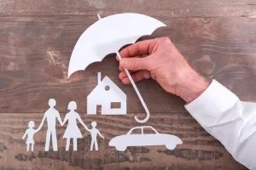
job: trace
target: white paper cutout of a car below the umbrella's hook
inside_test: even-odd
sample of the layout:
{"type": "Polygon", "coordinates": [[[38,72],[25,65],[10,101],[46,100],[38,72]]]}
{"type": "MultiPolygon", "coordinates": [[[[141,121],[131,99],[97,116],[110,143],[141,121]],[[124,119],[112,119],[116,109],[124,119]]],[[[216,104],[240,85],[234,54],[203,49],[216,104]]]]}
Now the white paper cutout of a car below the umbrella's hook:
{"type": "Polygon", "coordinates": [[[173,150],[177,144],[183,144],[183,141],[172,134],[158,133],[154,127],[150,126],[133,127],[127,134],[114,137],[109,142],[109,146],[114,146],[119,151],[125,151],[128,146],[152,145],[166,145],[168,150],[173,150]],[[145,128],[151,129],[154,133],[145,134],[143,132],[145,128]],[[141,133],[131,134],[136,129],[140,129],[141,133]]]}

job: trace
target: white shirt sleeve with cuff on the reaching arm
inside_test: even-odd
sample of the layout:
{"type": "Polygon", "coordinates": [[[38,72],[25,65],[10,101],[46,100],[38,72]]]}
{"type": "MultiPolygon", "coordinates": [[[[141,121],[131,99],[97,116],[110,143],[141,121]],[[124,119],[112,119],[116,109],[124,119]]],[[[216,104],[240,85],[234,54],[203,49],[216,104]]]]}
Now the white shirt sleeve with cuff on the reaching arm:
{"type": "Polygon", "coordinates": [[[229,89],[213,80],[185,108],[218,139],[226,150],[249,169],[256,169],[256,104],[242,102],[229,89]]]}

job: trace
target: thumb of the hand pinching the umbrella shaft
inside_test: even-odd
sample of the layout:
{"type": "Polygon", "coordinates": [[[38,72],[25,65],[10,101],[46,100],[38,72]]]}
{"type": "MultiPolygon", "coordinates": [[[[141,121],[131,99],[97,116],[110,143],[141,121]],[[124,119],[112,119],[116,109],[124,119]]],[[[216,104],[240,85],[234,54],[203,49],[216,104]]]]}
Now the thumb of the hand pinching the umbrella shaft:
{"type": "Polygon", "coordinates": [[[120,59],[120,65],[131,71],[150,70],[148,58],[123,58],[120,59]]]}

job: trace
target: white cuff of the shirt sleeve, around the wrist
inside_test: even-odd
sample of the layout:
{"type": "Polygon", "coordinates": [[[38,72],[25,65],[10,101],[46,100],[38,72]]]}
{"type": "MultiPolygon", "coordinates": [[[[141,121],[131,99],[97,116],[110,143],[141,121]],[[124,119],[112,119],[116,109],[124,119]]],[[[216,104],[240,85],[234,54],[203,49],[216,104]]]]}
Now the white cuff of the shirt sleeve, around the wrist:
{"type": "Polygon", "coordinates": [[[195,100],[185,108],[203,127],[218,125],[225,111],[232,108],[239,100],[228,88],[216,80],[195,100]]]}

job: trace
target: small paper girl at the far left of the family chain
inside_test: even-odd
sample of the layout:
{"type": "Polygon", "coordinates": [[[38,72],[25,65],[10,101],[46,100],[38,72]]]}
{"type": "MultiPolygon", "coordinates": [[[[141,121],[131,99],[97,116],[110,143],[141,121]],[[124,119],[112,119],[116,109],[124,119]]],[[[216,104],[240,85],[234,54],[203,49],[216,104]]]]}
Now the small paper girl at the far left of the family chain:
{"type": "Polygon", "coordinates": [[[26,151],[29,151],[30,144],[31,144],[31,150],[32,151],[34,150],[35,141],[34,141],[33,137],[34,137],[34,134],[39,131],[38,129],[35,130],[34,127],[35,127],[35,122],[33,122],[33,121],[28,122],[28,129],[26,129],[26,133],[22,136],[22,139],[25,139],[26,135],[27,135],[26,151]]]}

